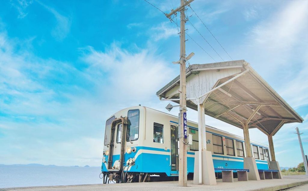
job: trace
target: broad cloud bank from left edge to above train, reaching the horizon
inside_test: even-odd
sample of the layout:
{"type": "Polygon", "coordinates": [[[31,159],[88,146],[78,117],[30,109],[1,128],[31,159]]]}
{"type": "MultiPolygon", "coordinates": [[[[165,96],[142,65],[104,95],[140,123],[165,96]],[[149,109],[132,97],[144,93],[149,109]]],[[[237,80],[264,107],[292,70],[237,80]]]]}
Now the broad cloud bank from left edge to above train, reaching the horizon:
{"type": "Polygon", "coordinates": [[[14,52],[17,44],[0,34],[0,107],[5,114],[0,116],[0,160],[5,164],[99,166],[106,119],[139,103],[165,104],[157,104],[155,93],[174,77],[151,48],[137,53],[116,44],[104,52],[83,48],[81,60],[88,67],[77,70],[23,48],[14,52]]]}

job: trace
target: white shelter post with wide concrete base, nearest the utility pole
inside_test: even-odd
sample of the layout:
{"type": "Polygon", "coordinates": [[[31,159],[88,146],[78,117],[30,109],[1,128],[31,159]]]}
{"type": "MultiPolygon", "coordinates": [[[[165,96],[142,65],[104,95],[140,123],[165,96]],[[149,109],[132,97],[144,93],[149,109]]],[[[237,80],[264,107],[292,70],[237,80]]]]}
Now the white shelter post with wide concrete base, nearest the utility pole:
{"type": "Polygon", "coordinates": [[[216,185],[212,152],[206,150],[204,105],[198,104],[199,151],[195,152],[194,184],[216,185]]]}

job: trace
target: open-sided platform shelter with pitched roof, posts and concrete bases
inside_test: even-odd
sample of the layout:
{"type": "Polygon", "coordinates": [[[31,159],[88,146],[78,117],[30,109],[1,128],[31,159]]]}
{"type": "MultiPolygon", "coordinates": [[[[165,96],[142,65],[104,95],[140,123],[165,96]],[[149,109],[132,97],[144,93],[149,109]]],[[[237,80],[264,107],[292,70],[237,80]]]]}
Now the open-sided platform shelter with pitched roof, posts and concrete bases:
{"type": "MultiPolygon", "coordinates": [[[[179,103],[180,77],[156,94],[179,103]]],[[[283,84],[282,84],[283,85],[283,84]]],[[[243,129],[249,180],[260,180],[249,141],[249,129],[268,136],[270,168],[279,170],[273,136],[286,123],[302,122],[302,117],[245,60],[193,64],[186,69],[187,107],[198,111],[199,152],[195,155],[194,182],[216,184],[212,154],[206,151],[205,114],[243,129]]],[[[281,178],[281,172],[279,173],[281,178]]]]}

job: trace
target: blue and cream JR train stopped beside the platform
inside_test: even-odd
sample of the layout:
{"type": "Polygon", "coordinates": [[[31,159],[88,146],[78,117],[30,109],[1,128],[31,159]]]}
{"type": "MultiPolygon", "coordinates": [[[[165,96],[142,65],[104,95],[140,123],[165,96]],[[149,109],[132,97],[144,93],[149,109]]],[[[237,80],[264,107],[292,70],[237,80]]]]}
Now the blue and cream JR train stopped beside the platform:
{"type": "MultiPolygon", "coordinates": [[[[140,182],[150,175],[176,179],[178,176],[178,117],[148,107],[129,107],[106,122],[102,173],[103,183],[140,182]],[[109,181],[108,181],[109,182],[109,181]]],[[[187,149],[187,173],[193,177],[198,151],[198,124],[188,121],[192,144],[187,149]]],[[[214,168],[244,167],[244,138],[206,126],[207,150],[214,168]]],[[[258,169],[269,169],[270,153],[265,144],[251,141],[258,169]]],[[[215,172],[219,176],[219,171],[215,172]]],[[[152,178],[153,176],[151,176],[152,178]]]]}

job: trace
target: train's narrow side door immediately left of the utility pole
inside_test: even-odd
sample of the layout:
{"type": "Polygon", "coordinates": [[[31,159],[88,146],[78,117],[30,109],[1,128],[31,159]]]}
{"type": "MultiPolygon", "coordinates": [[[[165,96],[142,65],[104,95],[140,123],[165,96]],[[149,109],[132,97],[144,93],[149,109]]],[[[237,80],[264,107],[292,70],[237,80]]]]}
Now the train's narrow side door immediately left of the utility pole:
{"type": "Polygon", "coordinates": [[[178,143],[178,127],[170,125],[170,170],[171,174],[179,173],[179,143],[178,143]]]}

